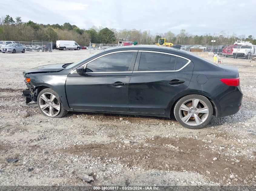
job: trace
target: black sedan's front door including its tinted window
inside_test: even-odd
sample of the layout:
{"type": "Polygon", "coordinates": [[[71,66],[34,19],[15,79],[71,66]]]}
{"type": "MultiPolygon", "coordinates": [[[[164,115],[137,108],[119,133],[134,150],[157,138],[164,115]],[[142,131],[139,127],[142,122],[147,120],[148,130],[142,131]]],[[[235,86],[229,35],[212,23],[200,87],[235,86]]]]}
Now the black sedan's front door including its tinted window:
{"type": "Polygon", "coordinates": [[[128,112],[128,83],[137,53],[109,53],[86,63],[85,75],[69,74],[66,81],[69,107],[128,112]]]}

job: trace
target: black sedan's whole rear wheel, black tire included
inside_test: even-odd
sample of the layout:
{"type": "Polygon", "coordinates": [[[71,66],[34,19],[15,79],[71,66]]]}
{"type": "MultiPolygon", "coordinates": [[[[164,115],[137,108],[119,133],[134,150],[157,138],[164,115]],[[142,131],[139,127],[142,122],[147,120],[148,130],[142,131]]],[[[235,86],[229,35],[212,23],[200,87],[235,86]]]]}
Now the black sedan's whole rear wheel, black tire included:
{"type": "Polygon", "coordinates": [[[211,102],[204,96],[191,94],[178,100],[174,107],[176,120],[188,129],[201,129],[212,117],[211,102]]]}

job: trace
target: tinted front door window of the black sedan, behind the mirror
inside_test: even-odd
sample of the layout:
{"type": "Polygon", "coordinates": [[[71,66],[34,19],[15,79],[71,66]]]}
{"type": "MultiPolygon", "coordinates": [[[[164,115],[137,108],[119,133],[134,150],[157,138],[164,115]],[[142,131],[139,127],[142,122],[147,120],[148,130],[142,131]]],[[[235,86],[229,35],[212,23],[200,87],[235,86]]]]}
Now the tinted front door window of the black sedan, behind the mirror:
{"type": "Polygon", "coordinates": [[[134,52],[113,53],[86,66],[86,72],[128,72],[134,52]]]}

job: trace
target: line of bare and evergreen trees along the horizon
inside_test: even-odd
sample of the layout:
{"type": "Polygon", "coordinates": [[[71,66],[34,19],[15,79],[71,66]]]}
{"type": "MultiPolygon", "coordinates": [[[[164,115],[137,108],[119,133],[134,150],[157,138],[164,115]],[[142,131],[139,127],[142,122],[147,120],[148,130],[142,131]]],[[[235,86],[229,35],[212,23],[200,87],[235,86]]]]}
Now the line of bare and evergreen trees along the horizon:
{"type": "Polygon", "coordinates": [[[92,43],[118,43],[122,41],[137,41],[138,44],[155,44],[159,38],[166,38],[167,42],[180,45],[228,45],[233,44],[236,40],[250,41],[256,44],[256,39],[249,35],[237,35],[221,31],[219,33],[205,33],[204,35],[192,35],[185,29],[175,34],[171,31],[166,33],[152,34],[150,30],[119,30],[115,28],[104,28],[102,26],[92,26],[89,29],[80,29],[70,23],[59,24],[38,24],[33,21],[22,22],[21,17],[13,19],[6,15],[0,18],[0,40],[14,40],[31,42],[32,40],[52,41],[56,40],[75,40],[80,45],[88,46],[92,43]],[[212,44],[211,40],[215,40],[212,44]]]}

